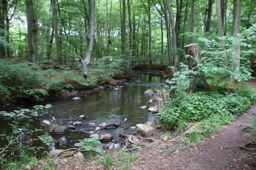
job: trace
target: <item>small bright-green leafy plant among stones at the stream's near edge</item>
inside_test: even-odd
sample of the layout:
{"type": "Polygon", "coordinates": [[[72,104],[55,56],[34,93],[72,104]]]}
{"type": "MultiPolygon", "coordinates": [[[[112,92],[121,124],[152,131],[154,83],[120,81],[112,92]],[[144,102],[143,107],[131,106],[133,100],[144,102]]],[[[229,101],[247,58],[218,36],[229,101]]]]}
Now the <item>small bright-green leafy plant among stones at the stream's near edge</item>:
{"type": "Polygon", "coordinates": [[[79,149],[81,150],[87,150],[87,151],[101,151],[101,147],[99,146],[101,142],[99,141],[98,137],[88,138],[81,141],[82,147],[79,149]]]}

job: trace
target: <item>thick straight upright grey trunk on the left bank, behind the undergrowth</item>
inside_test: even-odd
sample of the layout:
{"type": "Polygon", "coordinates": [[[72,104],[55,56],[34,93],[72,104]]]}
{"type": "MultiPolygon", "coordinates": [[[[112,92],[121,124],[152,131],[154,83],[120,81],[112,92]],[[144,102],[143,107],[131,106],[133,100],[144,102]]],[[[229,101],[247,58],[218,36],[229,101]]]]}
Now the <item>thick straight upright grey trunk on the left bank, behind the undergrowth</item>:
{"type": "Polygon", "coordinates": [[[35,16],[33,0],[26,0],[27,16],[27,61],[35,63],[35,16]]]}

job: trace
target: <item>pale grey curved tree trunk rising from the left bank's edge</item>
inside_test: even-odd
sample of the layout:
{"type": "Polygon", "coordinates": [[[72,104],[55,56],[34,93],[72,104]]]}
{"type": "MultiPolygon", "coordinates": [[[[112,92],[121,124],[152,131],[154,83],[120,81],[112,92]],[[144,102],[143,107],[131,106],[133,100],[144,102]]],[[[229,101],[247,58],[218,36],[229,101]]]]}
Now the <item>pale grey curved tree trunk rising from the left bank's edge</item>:
{"type": "Polygon", "coordinates": [[[88,0],[89,4],[89,28],[88,28],[88,37],[87,37],[87,48],[85,52],[85,58],[83,58],[82,63],[83,63],[83,74],[85,77],[88,77],[88,64],[90,62],[91,58],[91,52],[93,48],[93,38],[94,38],[94,5],[93,5],[93,0],[88,0]]]}

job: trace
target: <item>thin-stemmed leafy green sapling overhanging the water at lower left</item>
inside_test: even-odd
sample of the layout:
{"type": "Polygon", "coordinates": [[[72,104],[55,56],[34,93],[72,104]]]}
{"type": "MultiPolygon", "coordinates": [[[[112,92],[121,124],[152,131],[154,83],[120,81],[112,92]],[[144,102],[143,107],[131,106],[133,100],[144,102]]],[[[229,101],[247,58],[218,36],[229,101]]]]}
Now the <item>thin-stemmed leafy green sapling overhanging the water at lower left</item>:
{"type": "MultiPolygon", "coordinates": [[[[50,142],[53,141],[53,138],[51,136],[47,136],[47,135],[41,135],[38,136],[38,139],[29,139],[29,141],[31,143],[29,143],[28,145],[24,145],[22,143],[18,143],[18,139],[21,137],[21,135],[30,135],[33,132],[36,131],[42,131],[41,129],[29,129],[25,126],[19,126],[19,120],[23,119],[23,118],[30,118],[26,115],[20,116],[19,113],[20,112],[29,112],[31,114],[37,114],[38,110],[40,109],[47,109],[50,108],[52,105],[47,104],[46,106],[43,105],[36,105],[34,106],[35,110],[31,111],[29,109],[23,109],[20,111],[15,110],[14,112],[10,112],[10,113],[5,113],[5,116],[9,116],[8,118],[12,118],[12,123],[8,123],[10,125],[10,129],[12,129],[10,134],[0,134],[0,137],[3,139],[3,141],[7,142],[7,145],[5,147],[0,148],[0,161],[1,162],[5,162],[7,161],[7,159],[5,159],[5,155],[7,154],[6,152],[8,151],[12,151],[14,149],[16,150],[30,150],[32,152],[34,152],[34,154],[36,154],[40,149],[43,149],[42,146],[39,147],[31,147],[31,143],[33,143],[34,141],[38,141],[41,140],[43,143],[45,143],[45,145],[50,145],[50,142]]],[[[29,119],[29,121],[33,121],[31,119],[29,119]]]]}

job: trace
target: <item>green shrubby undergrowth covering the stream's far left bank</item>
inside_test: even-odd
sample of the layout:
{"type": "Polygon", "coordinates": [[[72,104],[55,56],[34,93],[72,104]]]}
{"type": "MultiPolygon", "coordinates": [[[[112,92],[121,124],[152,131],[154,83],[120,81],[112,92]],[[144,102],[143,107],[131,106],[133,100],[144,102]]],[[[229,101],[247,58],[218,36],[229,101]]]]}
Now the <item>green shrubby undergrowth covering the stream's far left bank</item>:
{"type": "Polygon", "coordinates": [[[75,93],[109,83],[113,78],[123,78],[122,59],[103,57],[89,63],[88,78],[82,77],[82,64],[55,69],[52,61],[37,63],[19,62],[16,59],[1,59],[0,98],[36,99],[64,92],[75,93]]]}

